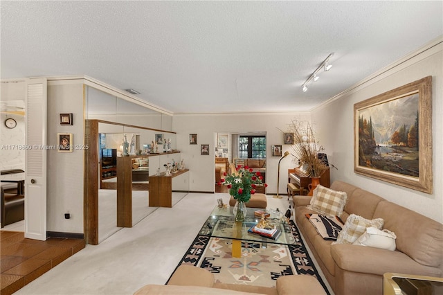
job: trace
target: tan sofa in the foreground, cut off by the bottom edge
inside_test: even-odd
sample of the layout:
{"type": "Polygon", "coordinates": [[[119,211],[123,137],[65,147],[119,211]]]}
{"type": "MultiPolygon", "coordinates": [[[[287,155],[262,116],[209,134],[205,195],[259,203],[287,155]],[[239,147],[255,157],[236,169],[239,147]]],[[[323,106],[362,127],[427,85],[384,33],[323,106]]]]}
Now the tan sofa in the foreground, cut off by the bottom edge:
{"type": "Polygon", "coordinates": [[[269,295],[322,295],[326,294],[314,276],[282,276],[275,287],[243,284],[215,283],[214,275],[206,269],[181,265],[168,281],[168,285],[145,285],[135,295],[142,294],[269,294],[269,295]]]}

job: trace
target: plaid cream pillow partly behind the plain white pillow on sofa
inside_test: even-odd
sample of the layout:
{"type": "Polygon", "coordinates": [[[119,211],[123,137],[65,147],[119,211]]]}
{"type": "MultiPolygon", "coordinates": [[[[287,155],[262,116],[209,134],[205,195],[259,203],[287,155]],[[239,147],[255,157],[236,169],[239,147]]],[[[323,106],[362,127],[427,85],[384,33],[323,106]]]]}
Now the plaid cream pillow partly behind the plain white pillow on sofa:
{"type": "Polygon", "coordinates": [[[337,242],[332,244],[352,244],[366,232],[366,228],[372,226],[376,229],[382,229],[383,224],[384,220],[382,218],[367,220],[359,215],[351,214],[347,217],[341,232],[338,233],[337,242]]]}

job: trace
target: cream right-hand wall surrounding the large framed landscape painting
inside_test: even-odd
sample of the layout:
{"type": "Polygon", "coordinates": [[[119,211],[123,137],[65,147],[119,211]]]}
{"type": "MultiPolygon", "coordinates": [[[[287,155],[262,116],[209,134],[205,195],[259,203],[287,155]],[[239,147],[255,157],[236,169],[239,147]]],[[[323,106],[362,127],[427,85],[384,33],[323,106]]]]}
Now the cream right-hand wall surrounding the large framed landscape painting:
{"type": "Polygon", "coordinates": [[[312,112],[312,122],[321,126],[319,135],[329,161],[338,168],[331,170],[331,180],[347,181],[438,222],[443,222],[442,47],[440,44],[437,48],[419,54],[389,69],[381,77],[366,82],[352,93],[347,93],[312,112]],[[428,195],[354,173],[354,104],[428,75],[433,76],[433,194],[428,195]]]}

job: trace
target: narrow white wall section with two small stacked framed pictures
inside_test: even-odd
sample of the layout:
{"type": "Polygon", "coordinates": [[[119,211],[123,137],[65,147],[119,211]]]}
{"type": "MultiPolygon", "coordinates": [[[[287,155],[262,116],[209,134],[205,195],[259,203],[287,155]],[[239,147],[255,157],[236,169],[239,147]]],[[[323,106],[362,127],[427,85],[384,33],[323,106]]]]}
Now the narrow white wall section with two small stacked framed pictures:
{"type": "Polygon", "coordinates": [[[48,145],[57,145],[57,133],[72,133],[73,152],[48,150],[47,230],[83,233],[84,120],[83,84],[48,82],[48,145]],[[60,113],[73,113],[73,125],[60,125],[60,113]],[[71,219],[64,219],[69,211],[71,219]]]}

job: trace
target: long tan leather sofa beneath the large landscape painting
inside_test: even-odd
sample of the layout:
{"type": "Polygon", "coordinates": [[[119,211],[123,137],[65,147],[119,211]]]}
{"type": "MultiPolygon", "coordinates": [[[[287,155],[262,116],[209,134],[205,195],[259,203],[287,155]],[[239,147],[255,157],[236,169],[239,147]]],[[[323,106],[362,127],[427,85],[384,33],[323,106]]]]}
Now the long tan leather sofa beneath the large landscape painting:
{"type": "Polygon", "coordinates": [[[443,224],[343,181],[334,181],[331,188],[347,193],[343,222],[351,214],[368,220],[382,218],[383,229],[397,235],[395,251],[332,244],[305,217],[316,213],[307,208],[311,197],[294,196],[298,229],[336,295],[382,294],[387,272],[443,276],[443,224]]]}

